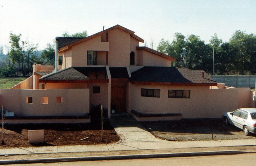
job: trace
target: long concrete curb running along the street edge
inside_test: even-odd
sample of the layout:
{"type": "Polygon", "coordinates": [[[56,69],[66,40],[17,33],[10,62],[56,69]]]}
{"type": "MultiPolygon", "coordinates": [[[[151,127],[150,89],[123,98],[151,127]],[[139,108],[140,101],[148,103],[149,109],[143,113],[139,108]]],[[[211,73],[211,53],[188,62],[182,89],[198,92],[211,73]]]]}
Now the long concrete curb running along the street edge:
{"type": "Polygon", "coordinates": [[[113,156],[87,156],[87,157],[65,157],[65,158],[41,158],[41,159],[14,159],[0,160],[0,164],[28,164],[43,162],[67,162],[67,161],[94,161],[94,160],[124,160],[140,158],[167,158],[167,157],[190,157],[205,155],[228,155],[251,153],[247,151],[208,151],[208,152],[182,152],[182,153],[160,153],[160,154],[133,154],[133,155],[113,155],[113,156]]]}

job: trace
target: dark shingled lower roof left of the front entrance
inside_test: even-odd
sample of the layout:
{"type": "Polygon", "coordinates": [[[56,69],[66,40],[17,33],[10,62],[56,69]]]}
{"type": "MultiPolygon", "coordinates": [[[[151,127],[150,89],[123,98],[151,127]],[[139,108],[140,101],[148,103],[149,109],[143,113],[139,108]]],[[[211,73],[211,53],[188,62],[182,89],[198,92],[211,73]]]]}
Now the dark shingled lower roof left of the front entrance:
{"type": "Polygon", "coordinates": [[[89,72],[105,71],[106,67],[69,67],[53,72],[40,80],[88,80],[89,72]]]}

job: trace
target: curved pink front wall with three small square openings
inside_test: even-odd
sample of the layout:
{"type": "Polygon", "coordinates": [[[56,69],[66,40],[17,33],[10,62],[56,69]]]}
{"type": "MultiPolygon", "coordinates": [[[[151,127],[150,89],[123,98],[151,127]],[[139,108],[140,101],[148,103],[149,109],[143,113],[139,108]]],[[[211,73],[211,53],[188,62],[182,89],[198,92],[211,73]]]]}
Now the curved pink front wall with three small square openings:
{"type": "Polygon", "coordinates": [[[89,113],[89,89],[0,89],[0,105],[15,116],[84,116],[89,113]],[[42,97],[48,97],[48,103],[41,103],[42,97]]]}

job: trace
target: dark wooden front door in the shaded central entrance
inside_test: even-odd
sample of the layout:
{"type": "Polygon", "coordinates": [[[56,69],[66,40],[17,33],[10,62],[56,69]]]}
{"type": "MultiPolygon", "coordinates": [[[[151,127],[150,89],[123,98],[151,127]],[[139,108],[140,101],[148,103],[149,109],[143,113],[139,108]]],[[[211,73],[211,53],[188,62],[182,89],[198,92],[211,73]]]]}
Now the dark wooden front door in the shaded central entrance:
{"type": "Polygon", "coordinates": [[[111,87],[111,109],[116,112],[125,111],[125,86],[111,87]]]}

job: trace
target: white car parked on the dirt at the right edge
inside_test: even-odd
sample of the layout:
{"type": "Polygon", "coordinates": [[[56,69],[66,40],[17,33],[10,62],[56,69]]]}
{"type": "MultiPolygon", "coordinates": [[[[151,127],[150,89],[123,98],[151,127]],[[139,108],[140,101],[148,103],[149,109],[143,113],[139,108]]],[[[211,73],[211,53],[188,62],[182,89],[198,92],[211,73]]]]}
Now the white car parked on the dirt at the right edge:
{"type": "Polygon", "coordinates": [[[256,109],[240,108],[234,112],[226,112],[222,116],[226,125],[233,124],[241,129],[245,135],[256,133],[256,109]]]}

